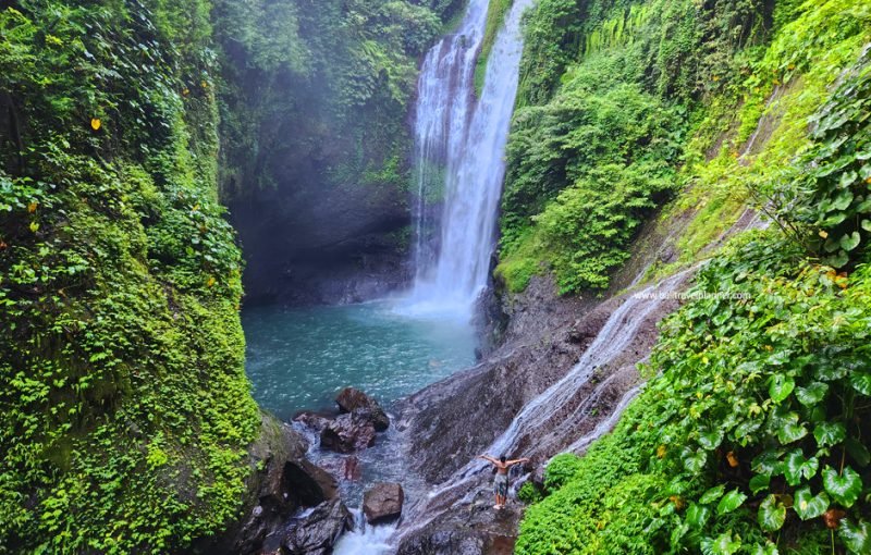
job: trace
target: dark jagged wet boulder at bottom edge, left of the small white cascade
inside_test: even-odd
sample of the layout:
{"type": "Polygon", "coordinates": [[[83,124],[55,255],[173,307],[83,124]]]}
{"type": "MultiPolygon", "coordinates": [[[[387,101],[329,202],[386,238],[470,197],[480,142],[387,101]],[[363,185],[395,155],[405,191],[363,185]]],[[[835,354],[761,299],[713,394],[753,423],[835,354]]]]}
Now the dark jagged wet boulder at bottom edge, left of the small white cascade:
{"type": "Polygon", "coordinates": [[[351,530],[353,523],[351,511],[341,499],[327,501],[292,522],[281,545],[291,555],[331,553],[339,536],[351,530]]]}

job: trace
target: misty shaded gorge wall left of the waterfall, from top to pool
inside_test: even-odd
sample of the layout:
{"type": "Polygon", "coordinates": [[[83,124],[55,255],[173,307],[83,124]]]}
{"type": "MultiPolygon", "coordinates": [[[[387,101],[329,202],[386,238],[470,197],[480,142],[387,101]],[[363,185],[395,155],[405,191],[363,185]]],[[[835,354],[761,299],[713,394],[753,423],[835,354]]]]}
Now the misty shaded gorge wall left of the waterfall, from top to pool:
{"type": "Polygon", "coordinates": [[[352,301],[407,283],[417,66],[462,4],[216,2],[222,197],[248,301],[352,301]]]}

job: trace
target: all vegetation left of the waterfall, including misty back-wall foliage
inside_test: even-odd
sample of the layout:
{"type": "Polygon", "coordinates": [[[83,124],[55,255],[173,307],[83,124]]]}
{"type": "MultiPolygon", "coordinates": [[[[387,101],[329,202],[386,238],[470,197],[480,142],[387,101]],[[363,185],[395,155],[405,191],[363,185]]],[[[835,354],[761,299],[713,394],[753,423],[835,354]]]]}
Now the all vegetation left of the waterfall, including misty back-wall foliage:
{"type": "Polygon", "coordinates": [[[260,417],[219,189],[281,141],[395,185],[458,5],[0,2],[0,553],[168,553],[237,517],[260,417]]]}

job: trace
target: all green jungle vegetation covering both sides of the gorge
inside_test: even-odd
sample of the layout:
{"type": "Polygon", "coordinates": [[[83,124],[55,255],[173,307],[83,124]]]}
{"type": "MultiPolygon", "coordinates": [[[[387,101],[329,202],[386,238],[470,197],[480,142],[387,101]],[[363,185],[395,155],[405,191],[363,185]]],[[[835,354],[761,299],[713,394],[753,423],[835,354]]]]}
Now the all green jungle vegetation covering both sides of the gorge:
{"type": "MultiPolygon", "coordinates": [[[[417,63],[463,5],[0,0],[0,553],[186,552],[238,517],[260,415],[221,200],[405,198],[417,63]]],[[[689,223],[649,280],[773,223],[701,267],[615,431],[524,490],[517,552],[871,553],[871,4],[539,0],[525,33],[510,293],[606,289],[651,219],[689,223]]]]}

